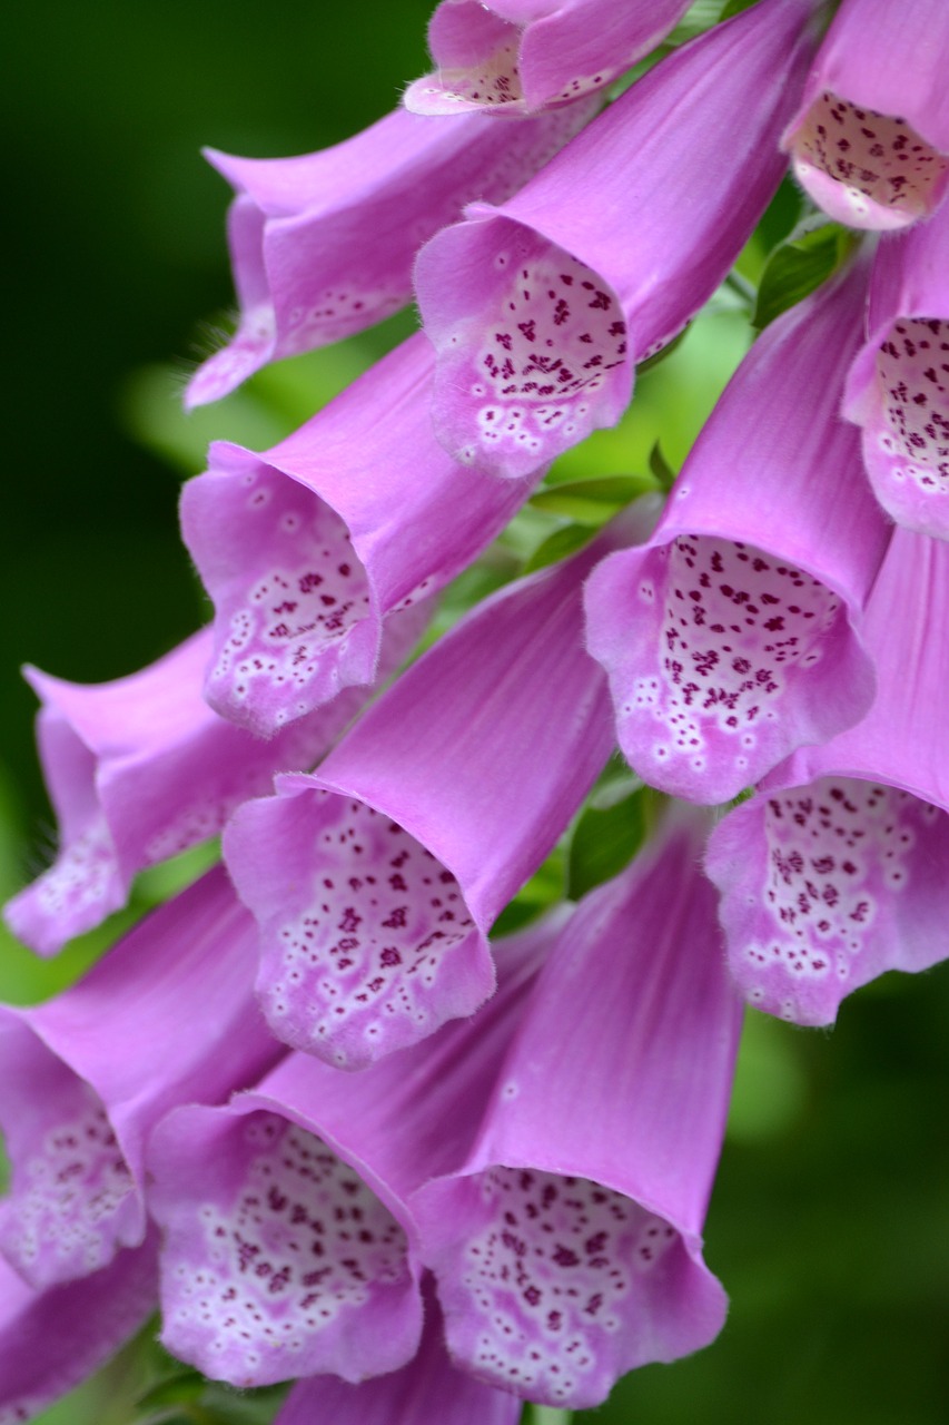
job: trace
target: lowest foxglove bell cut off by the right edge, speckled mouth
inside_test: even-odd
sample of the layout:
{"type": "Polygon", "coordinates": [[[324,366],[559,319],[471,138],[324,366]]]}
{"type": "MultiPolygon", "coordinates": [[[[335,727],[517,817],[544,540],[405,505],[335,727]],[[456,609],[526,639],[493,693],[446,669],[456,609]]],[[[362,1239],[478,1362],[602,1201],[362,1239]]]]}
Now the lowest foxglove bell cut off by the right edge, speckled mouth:
{"type": "Polygon", "coordinates": [[[866,616],[869,715],[805,748],[708,845],[731,969],[758,1009],[831,1025],[888,969],[949,956],[949,547],[898,530],[866,616]]]}

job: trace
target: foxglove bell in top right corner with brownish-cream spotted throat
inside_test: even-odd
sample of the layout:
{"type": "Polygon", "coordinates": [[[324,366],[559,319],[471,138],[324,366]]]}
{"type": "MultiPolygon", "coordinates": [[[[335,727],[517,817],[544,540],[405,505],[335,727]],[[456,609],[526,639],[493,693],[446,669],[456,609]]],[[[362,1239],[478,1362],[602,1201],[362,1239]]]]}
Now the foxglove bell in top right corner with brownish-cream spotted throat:
{"type": "Polygon", "coordinates": [[[784,135],[794,172],[838,222],[883,232],[949,187],[949,9],[844,0],[784,135]]]}

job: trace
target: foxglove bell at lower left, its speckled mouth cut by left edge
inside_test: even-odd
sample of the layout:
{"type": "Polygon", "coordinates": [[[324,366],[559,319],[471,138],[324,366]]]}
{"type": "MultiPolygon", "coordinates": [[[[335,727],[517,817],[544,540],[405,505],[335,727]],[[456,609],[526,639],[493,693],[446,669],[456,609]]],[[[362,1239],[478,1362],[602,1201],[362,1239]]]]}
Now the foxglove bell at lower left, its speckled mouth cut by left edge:
{"type": "Polygon", "coordinates": [[[256,929],[218,868],[73,989],[0,1009],[11,1163],[0,1248],[37,1288],[100,1271],[145,1235],[144,1153],[185,1100],[254,1083],[284,1046],[254,999],[256,929]]]}

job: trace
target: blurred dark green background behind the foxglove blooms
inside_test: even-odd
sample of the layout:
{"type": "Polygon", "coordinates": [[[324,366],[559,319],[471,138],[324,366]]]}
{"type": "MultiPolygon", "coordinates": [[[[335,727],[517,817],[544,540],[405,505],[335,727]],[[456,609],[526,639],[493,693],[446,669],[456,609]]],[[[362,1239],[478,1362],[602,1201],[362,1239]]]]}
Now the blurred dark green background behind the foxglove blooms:
{"type": "MultiPolygon", "coordinates": [[[[281,402],[289,429],[372,351],[323,353],[269,398],[264,378],[261,400],[178,419],[174,380],[155,366],[184,379],[207,349],[201,322],[232,301],[228,192],[199,145],[276,155],[342,140],[423,70],[427,13],[427,0],[37,0],[7,21],[7,892],[51,839],[17,665],[98,681],[191,631],[207,606],[177,539],[180,475],[199,469],[208,433],[275,439],[281,402]]],[[[678,463],[742,345],[730,314],[712,314],[643,378],[624,433],[594,437],[570,473],[631,467],[654,429],[678,463]]],[[[24,965],[6,949],[10,998],[24,965]]],[[[755,1016],[707,1231],[730,1324],[691,1361],[631,1377],[593,1418],[945,1425],[948,1025],[945,968],[862,992],[832,1035],[755,1016]]],[[[97,1425],[101,1396],[53,1418],[97,1425]]]]}

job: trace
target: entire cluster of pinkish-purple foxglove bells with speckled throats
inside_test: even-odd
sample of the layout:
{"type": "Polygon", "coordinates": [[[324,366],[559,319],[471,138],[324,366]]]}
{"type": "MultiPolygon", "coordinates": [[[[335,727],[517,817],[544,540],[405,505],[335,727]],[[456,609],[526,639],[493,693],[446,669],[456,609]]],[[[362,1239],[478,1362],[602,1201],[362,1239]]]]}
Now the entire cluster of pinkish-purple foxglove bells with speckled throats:
{"type": "Polygon", "coordinates": [[[597,1405],[722,1325],[742,1002],[831,1025],[946,956],[949,10],[834,9],[683,43],[684,0],[440,0],[405,108],[211,155],[241,315],[190,405],[413,291],[425,329],[272,449],[212,445],[181,504],[207,628],[110,684],[28,673],[60,851],[7,906],[27,945],[224,861],[0,1006],[3,1425],[155,1305],[207,1377],[296,1382],[279,1425],[597,1405]],[[671,489],[418,654],[788,162],[834,261],[671,489]],[[617,747],[645,844],[489,939],[617,747]]]}

